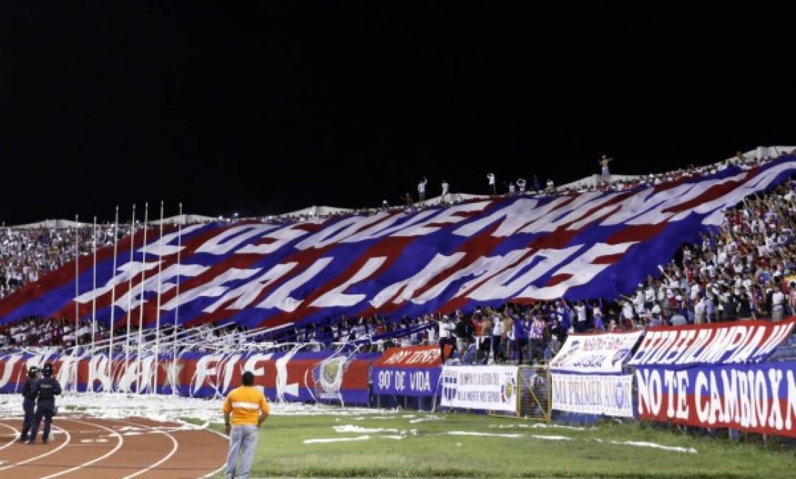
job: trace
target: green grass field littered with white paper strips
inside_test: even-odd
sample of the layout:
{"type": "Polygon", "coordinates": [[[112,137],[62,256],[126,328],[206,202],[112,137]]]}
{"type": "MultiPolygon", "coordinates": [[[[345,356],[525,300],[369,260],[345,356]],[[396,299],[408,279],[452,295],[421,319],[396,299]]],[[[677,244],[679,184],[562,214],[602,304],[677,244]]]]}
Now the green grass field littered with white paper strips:
{"type": "MultiPolygon", "coordinates": [[[[390,417],[271,416],[260,431],[252,477],[796,477],[796,453],[786,446],[696,437],[638,424],[603,423],[588,430],[534,424],[412,411],[390,417]],[[423,420],[411,422],[417,419],[423,420]],[[335,426],[352,431],[338,432],[335,426]],[[318,438],[359,440],[304,443],[318,438]],[[622,443],[629,441],[696,452],[622,443]]],[[[213,428],[223,429],[221,424],[213,428]]]]}

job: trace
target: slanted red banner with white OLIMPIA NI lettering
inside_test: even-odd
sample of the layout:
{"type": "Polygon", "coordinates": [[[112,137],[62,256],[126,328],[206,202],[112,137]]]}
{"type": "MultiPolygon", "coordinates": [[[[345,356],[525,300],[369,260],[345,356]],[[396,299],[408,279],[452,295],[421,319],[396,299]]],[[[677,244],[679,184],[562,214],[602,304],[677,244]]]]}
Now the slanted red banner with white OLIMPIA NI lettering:
{"type": "Polygon", "coordinates": [[[793,333],[794,324],[796,318],[650,328],[627,364],[687,368],[759,363],[793,333]]]}

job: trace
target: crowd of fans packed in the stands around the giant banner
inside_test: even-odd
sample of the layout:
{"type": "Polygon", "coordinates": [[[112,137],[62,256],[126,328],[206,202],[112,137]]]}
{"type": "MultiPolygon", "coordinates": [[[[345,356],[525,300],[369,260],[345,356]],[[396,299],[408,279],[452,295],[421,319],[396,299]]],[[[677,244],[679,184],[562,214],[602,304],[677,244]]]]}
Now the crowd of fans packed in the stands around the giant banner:
{"type": "MultiPolygon", "coordinates": [[[[728,166],[751,169],[773,158],[736,158],[710,166],[678,169],[650,175],[643,180],[603,181],[577,191],[556,191],[518,181],[509,194],[569,194],[595,189],[623,190],[658,185],[716,173],[728,166]],[[529,189],[525,186],[529,185],[529,189]],[[547,189],[547,193],[544,193],[547,189]],[[531,193],[533,191],[533,193],[531,193]]],[[[607,161],[601,178],[610,178],[607,161]]],[[[490,174],[490,181],[495,181],[490,174]]],[[[425,189],[423,178],[423,189],[425,189]]],[[[494,183],[490,184],[490,188],[494,183]]],[[[113,243],[113,230],[103,225],[98,246],[113,243]]],[[[129,228],[128,228],[129,229],[129,228]]],[[[80,254],[92,251],[90,228],[79,232],[80,254]]],[[[247,342],[308,344],[310,349],[357,344],[361,349],[386,349],[392,345],[440,345],[447,357],[464,362],[544,361],[552,357],[569,333],[643,328],[646,325],[683,325],[746,318],[773,321],[796,314],[796,182],[786,181],[776,189],[747,198],[726,212],[724,223],[699,244],[684,244],[676,257],[661,265],[660,275],[650,275],[633,294],[586,302],[537,302],[532,306],[481,307],[472,313],[457,311],[388,321],[380,317],[341,318],[322,325],[308,325],[267,334],[248,334],[240,327],[201,326],[197,348],[235,349],[247,342]],[[449,348],[449,349],[446,349],[449,348]]],[[[129,231],[120,230],[119,236],[129,231]]],[[[70,261],[75,254],[75,232],[57,229],[0,232],[0,298],[41,275],[70,261]]],[[[134,325],[135,326],[135,325],[134,325]]],[[[60,345],[75,343],[75,325],[56,319],[30,318],[0,326],[0,346],[60,345]]],[[[97,325],[95,341],[109,331],[97,325]]],[[[123,329],[117,336],[126,333],[123,329]]],[[[256,332],[255,332],[256,333],[256,332]]],[[[145,340],[154,336],[146,333],[145,340]]],[[[168,332],[166,332],[168,334],[168,332]]],[[[77,328],[77,341],[92,340],[92,325],[84,320],[77,328]]],[[[287,347],[287,346],[286,346],[287,347]]]]}

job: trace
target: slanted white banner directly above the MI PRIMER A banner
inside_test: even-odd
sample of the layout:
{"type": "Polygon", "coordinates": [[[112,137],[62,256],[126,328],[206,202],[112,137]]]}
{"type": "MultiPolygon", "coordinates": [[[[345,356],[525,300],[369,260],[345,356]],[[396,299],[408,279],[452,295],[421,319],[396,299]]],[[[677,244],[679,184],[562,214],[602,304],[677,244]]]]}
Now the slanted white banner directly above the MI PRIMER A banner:
{"type": "Polygon", "coordinates": [[[643,333],[639,329],[626,333],[570,334],[550,361],[550,368],[582,374],[618,374],[643,333]]]}

